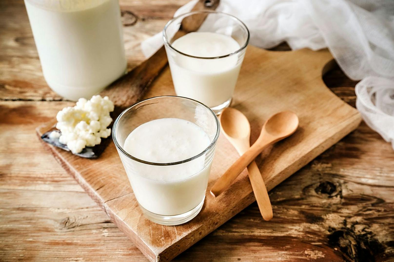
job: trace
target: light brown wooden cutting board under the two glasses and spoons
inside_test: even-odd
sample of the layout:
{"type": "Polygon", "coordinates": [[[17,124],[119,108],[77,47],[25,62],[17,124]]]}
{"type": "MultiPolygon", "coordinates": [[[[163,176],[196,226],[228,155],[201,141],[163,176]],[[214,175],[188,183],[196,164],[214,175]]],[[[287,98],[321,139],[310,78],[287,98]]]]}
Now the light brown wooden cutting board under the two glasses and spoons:
{"type": "MultiPolygon", "coordinates": [[[[333,57],[328,50],[273,52],[254,46],[247,48],[232,106],[251,122],[251,142],[258,137],[264,121],[277,111],[292,110],[300,121],[294,135],[269,148],[270,154],[256,161],[268,190],[361,122],[357,110],[323,83],[322,74],[332,64],[333,57]]],[[[168,67],[152,83],[145,98],[160,95],[174,95],[168,67]]],[[[47,130],[48,126],[44,125],[37,128],[37,134],[41,136],[47,130]]],[[[246,171],[219,197],[209,194],[216,179],[238,158],[222,134],[217,142],[203,209],[196,218],[178,226],[158,225],[143,216],[113,143],[95,160],[44,145],[151,261],[171,260],[255,201],[246,171]]],[[[264,221],[260,223],[264,227],[264,221]]]]}

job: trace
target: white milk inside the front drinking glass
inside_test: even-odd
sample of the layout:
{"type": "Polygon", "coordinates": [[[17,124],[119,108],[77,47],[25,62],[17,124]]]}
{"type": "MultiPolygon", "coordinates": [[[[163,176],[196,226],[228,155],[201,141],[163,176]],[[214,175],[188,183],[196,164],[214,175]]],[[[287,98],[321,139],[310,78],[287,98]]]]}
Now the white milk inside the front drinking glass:
{"type": "MultiPolygon", "coordinates": [[[[210,138],[198,125],[178,118],[161,118],[134,129],[123,149],[148,162],[171,163],[203,152],[210,138]]],[[[146,210],[164,216],[183,214],[197,207],[205,197],[212,158],[203,155],[192,161],[154,166],[123,161],[138,203],[146,210]]]]}

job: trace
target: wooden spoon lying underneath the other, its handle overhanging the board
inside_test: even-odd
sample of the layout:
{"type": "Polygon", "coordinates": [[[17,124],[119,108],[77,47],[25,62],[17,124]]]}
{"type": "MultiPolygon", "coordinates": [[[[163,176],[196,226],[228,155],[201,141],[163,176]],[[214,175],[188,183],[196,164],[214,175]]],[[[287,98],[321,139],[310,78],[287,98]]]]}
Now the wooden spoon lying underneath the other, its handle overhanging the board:
{"type": "MultiPolygon", "coordinates": [[[[244,114],[237,109],[228,107],[220,115],[220,125],[223,134],[240,155],[250,148],[250,124],[244,114]]],[[[260,213],[264,220],[271,220],[273,216],[271,202],[255,161],[252,161],[247,166],[247,172],[249,173],[249,180],[252,184],[260,213]]]]}

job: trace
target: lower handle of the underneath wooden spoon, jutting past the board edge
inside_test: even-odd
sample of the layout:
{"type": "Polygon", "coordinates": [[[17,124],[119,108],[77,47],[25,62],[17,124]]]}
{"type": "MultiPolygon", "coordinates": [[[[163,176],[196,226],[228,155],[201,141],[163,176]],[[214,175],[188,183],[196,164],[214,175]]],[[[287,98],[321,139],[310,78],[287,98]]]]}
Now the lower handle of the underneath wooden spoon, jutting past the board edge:
{"type": "Polygon", "coordinates": [[[249,180],[252,185],[253,193],[255,194],[261,216],[266,221],[271,220],[273,217],[271,201],[269,201],[266,185],[264,184],[263,177],[261,176],[260,170],[258,170],[255,161],[251,162],[249,166],[247,166],[247,172],[249,173],[249,180]]]}

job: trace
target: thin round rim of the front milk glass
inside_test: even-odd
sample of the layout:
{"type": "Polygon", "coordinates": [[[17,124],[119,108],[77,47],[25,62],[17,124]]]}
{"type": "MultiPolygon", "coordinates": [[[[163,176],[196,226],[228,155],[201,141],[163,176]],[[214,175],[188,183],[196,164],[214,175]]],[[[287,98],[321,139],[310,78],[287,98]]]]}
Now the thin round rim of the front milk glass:
{"type": "MultiPolygon", "coordinates": [[[[149,104],[148,104],[148,105],[149,105],[149,104]]],[[[145,123],[146,123],[146,122],[145,122],[145,123]]],[[[216,144],[216,142],[217,142],[217,139],[219,138],[219,134],[220,134],[220,124],[219,124],[219,120],[217,119],[217,116],[216,116],[216,114],[214,113],[214,111],[212,111],[209,107],[207,107],[207,106],[204,105],[203,103],[201,103],[201,102],[199,102],[199,101],[197,101],[197,100],[191,99],[191,98],[186,98],[186,97],[184,97],[184,96],[154,96],[154,97],[147,98],[147,99],[144,99],[144,100],[142,100],[142,101],[136,102],[136,103],[134,103],[133,105],[131,105],[130,107],[128,107],[128,108],[126,108],[125,110],[123,110],[123,112],[122,112],[121,114],[119,114],[119,116],[116,118],[115,122],[113,122],[113,126],[112,126],[112,140],[113,140],[113,142],[114,142],[116,148],[120,149],[121,152],[122,152],[126,157],[128,157],[129,159],[132,159],[132,160],[134,160],[134,161],[137,161],[137,162],[140,162],[140,163],[143,163],[143,164],[152,165],[152,166],[175,166],[175,165],[178,165],[178,164],[183,164],[183,163],[186,163],[186,162],[190,162],[190,161],[192,161],[192,160],[194,160],[194,159],[197,159],[197,158],[201,157],[204,153],[208,152],[210,149],[212,149],[212,148],[215,146],[215,144],[216,144]],[[118,122],[119,122],[119,119],[121,119],[121,117],[122,117],[125,113],[127,113],[129,110],[138,107],[138,105],[140,105],[141,103],[143,103],[143,102],[145,102],[145,101],[152,100],[152,99],[157,99],[157,98],[159,98],[159,99],[160,99],[160,98],[182,98],[183,100],[189,100],[189,101],[193,101],[193,102],[195,102],[195,103],[197,103],[197,104],[199,104],[199,105],[203,105],[206,109],[208,109],[208,111],[214,116],[215,123],[216,123],[216,135],[215,135],[214,139],[212,140],[212,142],[209,144],[209,146],[208,146],[207,148],[205,148],[205,149],[204,149],[201,153],[199,153],[198,155],[195,155],[195,156],[190,157],[190,158],[185,159],[185,160],[181,160],[181,161],[177,161],[177,162],[170,162],[170,163],[149,162],[149,161],[145,161],[145,160],[142,160],[142,159],[138,159],[137,157],[134,157],[134,156],[130,155],[129,153],[127,153],[127,152],[125,151],[125,149],[123,149],[123,148],[120,146],[119,142],[117,141],[116,135],[115,135],[115,127],[117,127],[118,122]]]]}

